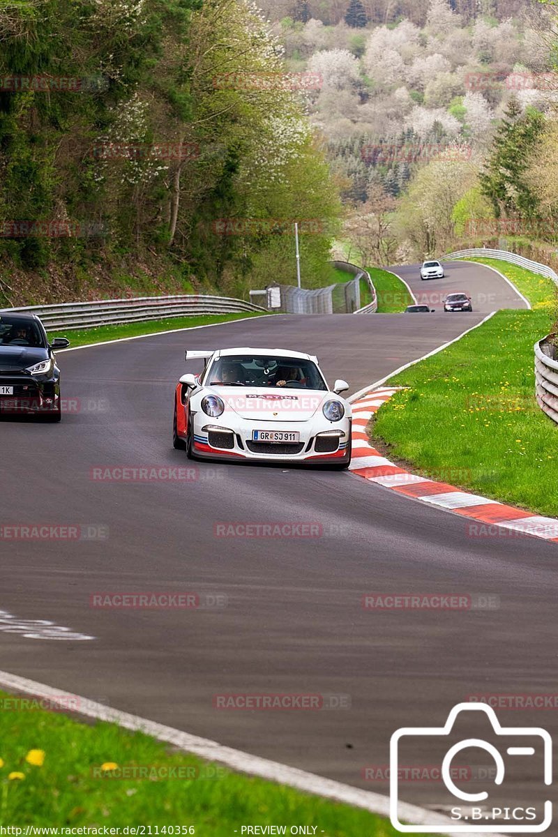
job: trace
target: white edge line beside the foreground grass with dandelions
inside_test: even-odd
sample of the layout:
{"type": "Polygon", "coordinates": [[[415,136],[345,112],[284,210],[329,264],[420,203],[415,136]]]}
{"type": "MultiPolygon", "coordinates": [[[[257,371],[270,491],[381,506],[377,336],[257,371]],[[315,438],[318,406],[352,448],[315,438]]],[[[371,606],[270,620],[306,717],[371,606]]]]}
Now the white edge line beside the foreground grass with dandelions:
{"type": "MultiPolygon", "coordinates": [[[[272,762],[268,758],[253,756],[242,750],[234,750],[232,747],[224,747],[222,744],[207,738],[200,738],[173,727],[165,727],[156,721],[148,721],[146,718],[131,715],[129,712],[112,709],[102,703],[90,701],[86,697],[72,695],[70,692],[45,686],[43,683],[28,680],[26,677],[12,675],[8,671],[0,671],[0,686],[19,694],[51,698],[53,706],[60,706],[63,711],[68,709],[69,700],[74,701],[70,706],[77,706],[78,714],[84,717],[116,723],[120,727],[132,731],[145,732],[146,735],[156,738],[157,741],[172,744],[183,752],[191,752],[200,758],[224,764],[240,773],[259,776],[259,778],[267,779],[270,782],[279,782],[288,785],[289,788],[296,788],[305,793],[314,793],[324,798],[333,799],[335,802],[353,805],[356,808],[370,811],[371,814],[389,818],[389,798],[382,796],[381,793],[353,788],[351,785],[335,782],[334,779],[317,776],[315,773],[307,773],[305,770],[299,770],[299,768],[291,768],[287,764],[272,762]]],[[[456,832],[451,830],[452,821],[442,814],[433,814],[432,811],[407,803],[399,804],[399,814],[402,819],[409,823],[439,824],[440,827],[445,827],[448,830],[438,833],[447,834],[448,837],[458,837],[456,832]]],[[[480,835],[472,834],[471,837],[480,837],[480,835]]]]}

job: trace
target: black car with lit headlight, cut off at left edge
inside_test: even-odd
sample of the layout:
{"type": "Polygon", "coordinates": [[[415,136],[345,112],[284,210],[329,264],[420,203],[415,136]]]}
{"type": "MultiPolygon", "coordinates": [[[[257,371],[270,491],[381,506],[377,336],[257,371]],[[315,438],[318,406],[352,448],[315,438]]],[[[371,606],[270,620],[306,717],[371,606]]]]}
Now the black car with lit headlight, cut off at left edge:
{"type": "Polygon", "coordinates": [[[37,316],[0,311],[0,416],[61,419],[60,370],[53,350],[67,346],[65,337],[49,343],[37,316]]]}

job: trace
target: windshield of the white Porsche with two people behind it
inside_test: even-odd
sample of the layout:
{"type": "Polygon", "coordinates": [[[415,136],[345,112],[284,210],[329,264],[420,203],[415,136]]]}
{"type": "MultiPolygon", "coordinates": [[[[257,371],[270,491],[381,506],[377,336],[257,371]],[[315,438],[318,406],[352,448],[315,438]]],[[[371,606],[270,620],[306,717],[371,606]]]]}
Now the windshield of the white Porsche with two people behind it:
{"type": "Polygon", "coordinates": [[[286,387],[327,390],[314,362],[303,357],[226,355],[214,361],[204,383],[212,387],[286,387]]]}

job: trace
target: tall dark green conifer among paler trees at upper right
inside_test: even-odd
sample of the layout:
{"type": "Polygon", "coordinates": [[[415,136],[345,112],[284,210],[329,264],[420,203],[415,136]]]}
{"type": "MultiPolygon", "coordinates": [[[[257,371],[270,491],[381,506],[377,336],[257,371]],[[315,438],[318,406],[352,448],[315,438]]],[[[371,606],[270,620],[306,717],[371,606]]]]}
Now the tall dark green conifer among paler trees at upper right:
{"type": "Polygon", "coordinates": [[[496,218],[534,217],[539,199],[525,177],[529,158],[543,131],[545,117],[538,110],[527,110],[512,98],[504,113],[489,156],[481,173],[483,194],[494,206],[496,218]]]}

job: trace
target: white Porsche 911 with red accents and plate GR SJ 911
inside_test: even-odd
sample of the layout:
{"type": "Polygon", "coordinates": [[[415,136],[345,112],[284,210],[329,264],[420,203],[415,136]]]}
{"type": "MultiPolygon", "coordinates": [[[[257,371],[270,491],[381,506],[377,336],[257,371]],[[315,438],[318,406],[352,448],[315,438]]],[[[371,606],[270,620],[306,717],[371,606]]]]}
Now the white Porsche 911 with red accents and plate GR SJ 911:
{"type": "Polygon", "coordinates": [[[173,444],[192,459],[351,462],[351,406],[325,382],[318,358],[286,349],[186,352],[199,375],[177,384],[173,444]]]}

